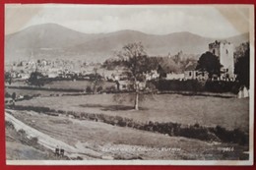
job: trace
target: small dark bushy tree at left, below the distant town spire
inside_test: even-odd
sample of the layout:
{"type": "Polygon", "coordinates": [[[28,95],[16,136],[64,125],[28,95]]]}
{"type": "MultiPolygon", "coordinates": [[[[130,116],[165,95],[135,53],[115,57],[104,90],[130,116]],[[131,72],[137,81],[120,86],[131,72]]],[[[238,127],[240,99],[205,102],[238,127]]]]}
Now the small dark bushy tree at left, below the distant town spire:
{"type": "Polygon", "coordinates": [[[31,77],[27,80],[28,85],[35,85],[35,86],[43,86],[45,85],[46,80],[43,78],[43,75],[38,72],[32,72],[31,77]]]}

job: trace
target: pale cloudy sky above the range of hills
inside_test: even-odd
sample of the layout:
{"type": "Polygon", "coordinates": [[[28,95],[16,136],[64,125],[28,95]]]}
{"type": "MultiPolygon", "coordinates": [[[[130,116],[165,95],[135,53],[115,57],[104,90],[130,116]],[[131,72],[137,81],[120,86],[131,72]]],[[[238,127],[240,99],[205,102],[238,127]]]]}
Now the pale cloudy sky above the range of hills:
{"type": "Polygon", "coordinates": [[[190,31],[224,38],[249,31],[248,6],[204,5],[20,5],[5,6],[5,34],[54,23],[85,33],[122,29],[150,34],[190,31]]]}

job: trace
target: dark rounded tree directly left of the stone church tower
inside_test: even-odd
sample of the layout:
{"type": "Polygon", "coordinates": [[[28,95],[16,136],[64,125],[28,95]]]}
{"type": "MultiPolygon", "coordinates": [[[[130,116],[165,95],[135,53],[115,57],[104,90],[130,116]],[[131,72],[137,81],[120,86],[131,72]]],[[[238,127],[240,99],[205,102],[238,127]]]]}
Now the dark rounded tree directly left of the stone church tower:
{"type": "Polygon", "coordinates": [[[196,70],[208,72],[209,78],[211,79],[213,75],[221,75],[221,68],[222,65],[219,58],[213,53],[207,51],[199,58],[196,70]]]}

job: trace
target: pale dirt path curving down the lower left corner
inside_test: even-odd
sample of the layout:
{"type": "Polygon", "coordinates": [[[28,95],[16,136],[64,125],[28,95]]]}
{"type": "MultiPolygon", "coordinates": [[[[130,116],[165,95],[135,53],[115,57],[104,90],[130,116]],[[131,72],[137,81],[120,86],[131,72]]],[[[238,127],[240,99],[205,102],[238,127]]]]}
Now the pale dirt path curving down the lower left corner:
{"type": "MultiPolygon", "coordinates": [[[[12,112],[12,111],[9,110],[9,112],[12,112]]],[[[103,158],[103,156],[101,156],[101,154],[96,152],[95,150],[81,147],[81,146],[79,148],[77,148],[77,147],[74,147],[66,142],[61,142],[59,140],[53,139],[53,138],[49,137],[48,135],[43,134],[43,133],[33,129],[32,127],[26,125],[25,123],[16,119],[14,116],[12,116],[11,114],[9,114],[7,112],[5,112],[5,120],[12,122],[17,131],[23,129],[24,131],[26,131],[26,133],[28,134],[29,137],[31,137],[31,138],[36,137],[38,139],[38,143],[42,144],[43,146],[45,146],[51,150],[55,150],[56,146],[64,148],[65,155],[67,155],[70,158],[74,158],[77,156],[80,156],[83,158],[88,158],[88,157],[99,158],[99,159],[103,158]]]]}

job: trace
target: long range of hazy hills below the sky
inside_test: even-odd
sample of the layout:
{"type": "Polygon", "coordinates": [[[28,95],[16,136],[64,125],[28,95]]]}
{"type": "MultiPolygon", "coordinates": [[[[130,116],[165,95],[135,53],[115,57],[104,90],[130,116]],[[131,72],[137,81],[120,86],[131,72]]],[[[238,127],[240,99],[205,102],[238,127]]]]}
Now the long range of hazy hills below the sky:
{"type": "MultiPolygon", "coordinates": [[[[87,34],[56,24],[25,28],[5,36],[6,61],[34,59],[75,59],[99,61],[114,56],[115,51],[130,42],[141,41],[150,56],[174,55],[182,50],[186,54],[202,54],[215,39],[187,31],[165,35],[146,34],[135,30],[87,34]]],[[[248,33],[229,37],[235,45],[248,40],[248,33]]]]}

